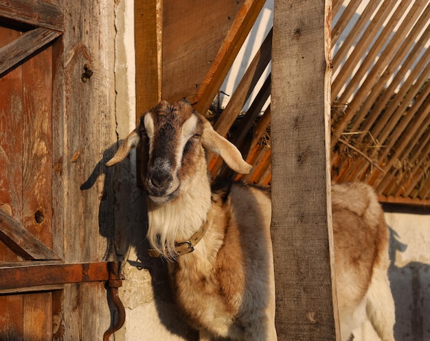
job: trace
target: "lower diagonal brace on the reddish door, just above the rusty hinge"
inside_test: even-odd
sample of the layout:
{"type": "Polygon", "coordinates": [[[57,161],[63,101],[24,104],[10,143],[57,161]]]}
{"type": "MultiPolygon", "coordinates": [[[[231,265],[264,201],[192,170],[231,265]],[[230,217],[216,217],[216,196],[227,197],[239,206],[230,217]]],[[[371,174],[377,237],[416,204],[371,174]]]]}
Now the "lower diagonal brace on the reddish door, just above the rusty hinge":
{"type": "Polygon", "coordinates": [[[59,259],[19,222],[1,210],[0,239],[23,259],[59,259]]]}

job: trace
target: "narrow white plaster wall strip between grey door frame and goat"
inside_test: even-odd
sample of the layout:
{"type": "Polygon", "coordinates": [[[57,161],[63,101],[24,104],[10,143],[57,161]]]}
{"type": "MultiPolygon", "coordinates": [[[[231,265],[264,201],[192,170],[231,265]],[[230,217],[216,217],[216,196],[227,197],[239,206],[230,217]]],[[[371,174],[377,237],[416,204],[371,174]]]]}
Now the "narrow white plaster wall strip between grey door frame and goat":
{"type": "MultiPolygon", "coordinates": [[[[115,118],[118,139],[122,140],[136,124],[133,0],[115,1],[115,31],[115,118]]],[[[131,152],[115,165],[115,250],[124,259],[120,298],[126,321],[114,339],[195,340],[195,331],[174,307],[166,264],[146,255],[146,200],[136,184],[135,152],[131,152]]]]}

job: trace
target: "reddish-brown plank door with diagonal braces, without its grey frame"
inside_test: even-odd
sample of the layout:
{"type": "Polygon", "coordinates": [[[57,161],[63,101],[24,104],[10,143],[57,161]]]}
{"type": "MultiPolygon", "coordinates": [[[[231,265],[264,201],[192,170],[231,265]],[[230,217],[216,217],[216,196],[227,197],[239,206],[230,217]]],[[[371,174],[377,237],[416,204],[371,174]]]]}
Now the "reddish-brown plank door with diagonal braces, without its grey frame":
{"type": "MultiPolygon", "coordinates": [[[[0,48],[7,58],[1,58],[0,78],[0,208],[13,222],[8,224],[3,215],[2,262],[60,259],[49,252],[52,43],[59,35],[45,28],[29,30],[14,22],[3,22],[0,27],[0,48]],[[6,227],[8,234],[4,233],[6,227]],[[20,235],[24,236],[21,241],[20,235]]],[[[0,307],[0,340],[52,339],[51,290],[5,294],[0,296],[0,307]]]]}

